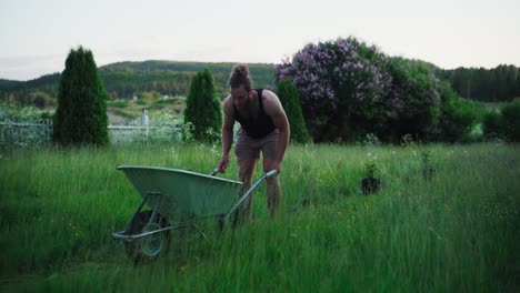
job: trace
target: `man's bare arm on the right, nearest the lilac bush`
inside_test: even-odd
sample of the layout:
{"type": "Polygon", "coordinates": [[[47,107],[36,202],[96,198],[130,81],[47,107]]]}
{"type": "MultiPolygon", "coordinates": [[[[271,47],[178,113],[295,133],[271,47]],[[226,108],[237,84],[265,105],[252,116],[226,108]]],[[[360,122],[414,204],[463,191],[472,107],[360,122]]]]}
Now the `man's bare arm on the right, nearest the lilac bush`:
{"type": "Polygon", "coordinates": [[[271,117],[272,122],[280,131],[280,138],[278,140],[278,150],[277,150],[277,169],[280,171],[281,163],[283,161],[283,155],[286,154],[287,145],[289,144],[290,138],[290,125],[289,120],[287,119],[286,111],[280,103],[278,97],[268,90],[264,90],[266,99],[263,100],[264,103],[264,111],[268,115],[271,117]]]}

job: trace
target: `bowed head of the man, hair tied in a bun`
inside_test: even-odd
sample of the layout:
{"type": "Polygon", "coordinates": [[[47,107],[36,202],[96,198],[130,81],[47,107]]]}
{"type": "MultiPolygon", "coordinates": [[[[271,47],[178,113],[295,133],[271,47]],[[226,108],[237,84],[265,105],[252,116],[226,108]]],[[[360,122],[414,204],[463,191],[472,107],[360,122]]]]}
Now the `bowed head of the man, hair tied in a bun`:
{"type": "Polygon", "coordinates": [[[252,99],[252,80],[249,77],[249,69],[247,65],[234,65],[231,70],[228,84],[231,89],[231,98],[233,99],[233,103],[238,109],[243,108],[250,103],[252,99]]]}

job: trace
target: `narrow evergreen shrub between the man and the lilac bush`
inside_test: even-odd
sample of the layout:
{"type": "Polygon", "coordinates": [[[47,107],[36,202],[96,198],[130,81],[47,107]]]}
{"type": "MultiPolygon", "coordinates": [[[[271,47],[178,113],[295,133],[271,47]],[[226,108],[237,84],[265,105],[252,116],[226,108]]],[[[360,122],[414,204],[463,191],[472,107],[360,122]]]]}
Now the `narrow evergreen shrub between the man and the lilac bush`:
{"type": "Polygon", "coordinates": [[[277,84],[277,94],[283,105],[289,124],[291,128],[292,142],[309,142],[309,132],[307,131],[306,121],[301,113],[300,95],[294,83],[289,79],[283,79],[277,84]]]}

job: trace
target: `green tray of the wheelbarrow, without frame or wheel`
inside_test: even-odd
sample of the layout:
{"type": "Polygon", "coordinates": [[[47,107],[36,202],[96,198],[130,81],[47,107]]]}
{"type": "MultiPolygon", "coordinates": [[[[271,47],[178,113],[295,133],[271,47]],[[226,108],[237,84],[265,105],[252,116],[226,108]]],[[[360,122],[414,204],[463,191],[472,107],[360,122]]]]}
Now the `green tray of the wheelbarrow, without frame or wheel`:
{"type": "Polygon", "coordinates": [[[196,172],[140,165],[121,165],[151,209],[169,219],[226,214],[239,196],[242,182],[196,172]]]}

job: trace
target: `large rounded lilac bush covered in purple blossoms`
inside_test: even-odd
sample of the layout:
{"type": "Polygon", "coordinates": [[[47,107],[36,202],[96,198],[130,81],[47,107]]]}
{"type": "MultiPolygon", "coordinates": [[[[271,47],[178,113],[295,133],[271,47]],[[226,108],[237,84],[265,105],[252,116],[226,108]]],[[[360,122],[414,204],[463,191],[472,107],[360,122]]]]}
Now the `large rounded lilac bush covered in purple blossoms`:
{"type": "Polygon", "coordinates": [[[354,38],[337,39],[306,46],[292,61],[277,67],[276,79],[289,78],[297,85],[314,140],[349,140],[351,118],[366,118],[363,124],[381,120],[371,105],[383,100],[390,82],[386,60],[376,47],[354,38]]]}

